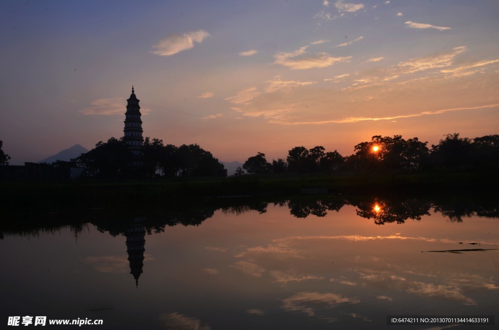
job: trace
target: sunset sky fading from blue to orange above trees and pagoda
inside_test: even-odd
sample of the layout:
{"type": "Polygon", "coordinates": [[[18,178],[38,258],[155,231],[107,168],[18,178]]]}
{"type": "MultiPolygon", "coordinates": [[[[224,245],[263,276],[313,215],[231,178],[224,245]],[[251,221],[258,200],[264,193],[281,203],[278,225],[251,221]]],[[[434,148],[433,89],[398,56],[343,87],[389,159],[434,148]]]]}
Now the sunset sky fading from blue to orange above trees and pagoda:
{"type": "Polygon", "coordinates": [[[497,0],[38,0],[0,4],[11,165],[123,136],[221,161],[374,135],[499,134],[497,0]]]}

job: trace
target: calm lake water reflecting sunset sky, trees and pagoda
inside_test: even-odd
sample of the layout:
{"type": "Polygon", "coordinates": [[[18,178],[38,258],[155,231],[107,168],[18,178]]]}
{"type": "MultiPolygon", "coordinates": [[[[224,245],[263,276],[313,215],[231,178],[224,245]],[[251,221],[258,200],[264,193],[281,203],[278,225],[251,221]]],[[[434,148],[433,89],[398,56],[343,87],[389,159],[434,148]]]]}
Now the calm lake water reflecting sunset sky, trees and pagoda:
{"type": "MultiPolygon", "coordinates": [[[[82,326],[95,329],[204,330],[376,329],[389,315],[497,317],[497,207],[375,198],[255,205],[183,221],[177,212],[154,225],[130,214],[4,232],[1,328],[15,316],[103,320],[82,326]]],[[[67,327],[76,326],[55,328],[67,327]]],[[[389,328],[443,326],[435,327],[389,328]]]]}

